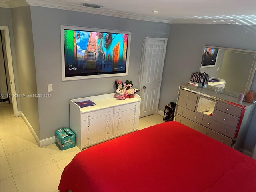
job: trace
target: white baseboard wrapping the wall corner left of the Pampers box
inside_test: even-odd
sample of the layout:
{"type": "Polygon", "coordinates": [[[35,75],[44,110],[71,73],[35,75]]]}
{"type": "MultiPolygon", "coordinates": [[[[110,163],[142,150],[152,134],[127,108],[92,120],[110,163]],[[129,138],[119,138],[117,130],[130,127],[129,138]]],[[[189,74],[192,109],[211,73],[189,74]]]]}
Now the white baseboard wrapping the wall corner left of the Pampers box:
{"type": "Polygon", "coordinates": [[[55,142],[55,137],[50,137],[50,138],[40,140],[38,138],[36,132],[34,131],[33,127],[31,126],[30,122],[26,118],[26,116],[21,111],[18,112],[18,115],[19,115],[19,117],[21,117],[24,120],[24,122],[28,126],[28,129],[30,130],[30,132],[32,133],[32,135],[34,136],[36,142],[38,143],[38,145],[40,147],[50,145],[50,144],[53,144],[55,142]]]}

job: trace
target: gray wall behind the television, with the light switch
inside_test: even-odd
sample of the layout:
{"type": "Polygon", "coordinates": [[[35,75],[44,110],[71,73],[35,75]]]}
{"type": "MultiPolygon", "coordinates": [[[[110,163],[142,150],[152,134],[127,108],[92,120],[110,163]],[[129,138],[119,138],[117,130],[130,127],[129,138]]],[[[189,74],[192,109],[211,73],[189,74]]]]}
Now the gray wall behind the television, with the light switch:
{"type": "Polygon", "coordinates": [[[168,38],[170,24],[146,22],[60,9],[31,7],[36,82],[38,94],[51,94],[38,98],[40,139],[54,136],[54,131],[69,127],[69,100],[99,94],[114,93],[116,78],[132,80],[138,88],[138,71],[144,38],[168,38]],[[60,25],[83,26],[131,31],[128,76],[62,82],[60,25]],[[53,92],[47,92],[53,84],[53,92]]]}

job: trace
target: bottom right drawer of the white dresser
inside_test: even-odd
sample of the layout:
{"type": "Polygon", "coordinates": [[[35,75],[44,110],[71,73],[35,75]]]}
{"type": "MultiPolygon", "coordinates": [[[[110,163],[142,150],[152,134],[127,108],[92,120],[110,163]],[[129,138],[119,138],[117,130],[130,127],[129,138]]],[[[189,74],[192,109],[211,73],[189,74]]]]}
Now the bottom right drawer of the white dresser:
{"type": "Polygon", "coordinates": [[[113,136],[118,136],[126,132],[138,129],[138,122],[139,118],[114,125],[113,136]]]}

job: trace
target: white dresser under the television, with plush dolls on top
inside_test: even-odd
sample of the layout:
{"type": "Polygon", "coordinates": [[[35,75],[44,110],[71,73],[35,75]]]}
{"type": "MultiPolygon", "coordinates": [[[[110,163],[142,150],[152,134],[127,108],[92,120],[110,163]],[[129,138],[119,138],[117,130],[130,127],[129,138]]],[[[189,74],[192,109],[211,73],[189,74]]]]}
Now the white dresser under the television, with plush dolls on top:
{"type": "Polygon", "coordinates": [[[80,150],[136,131],[140,96],[119,100],[114,93],[70,100],[70,128],[80,150]],[[91,100],[96,105],[80,108],[76,102],[91,100]]]}

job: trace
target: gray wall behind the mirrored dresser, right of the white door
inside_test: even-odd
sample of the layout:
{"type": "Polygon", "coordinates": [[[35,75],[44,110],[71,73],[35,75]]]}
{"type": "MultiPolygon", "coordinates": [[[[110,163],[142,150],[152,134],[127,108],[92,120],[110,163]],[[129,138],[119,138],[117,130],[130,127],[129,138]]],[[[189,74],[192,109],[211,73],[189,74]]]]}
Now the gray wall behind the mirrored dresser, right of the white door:
{"type": "MultiPolygon", "coordinates": [[[[190,74],[198,72],[204,45],[256,50],[255,26],[217,24],[171,24],[158,108],[171,100],[176,102],[179,85],[188,83],[190,74]]],[[[254,77],[253,84],[256,84],[254,77]]],[[[256,87],[252,86],[256,91],[256,87]]],[[[256,110],[254,110],[255,117],[256,110]]],[[[244,148],[252,151],[256,142],[255,120],[252,120],[244,148]]]]}

